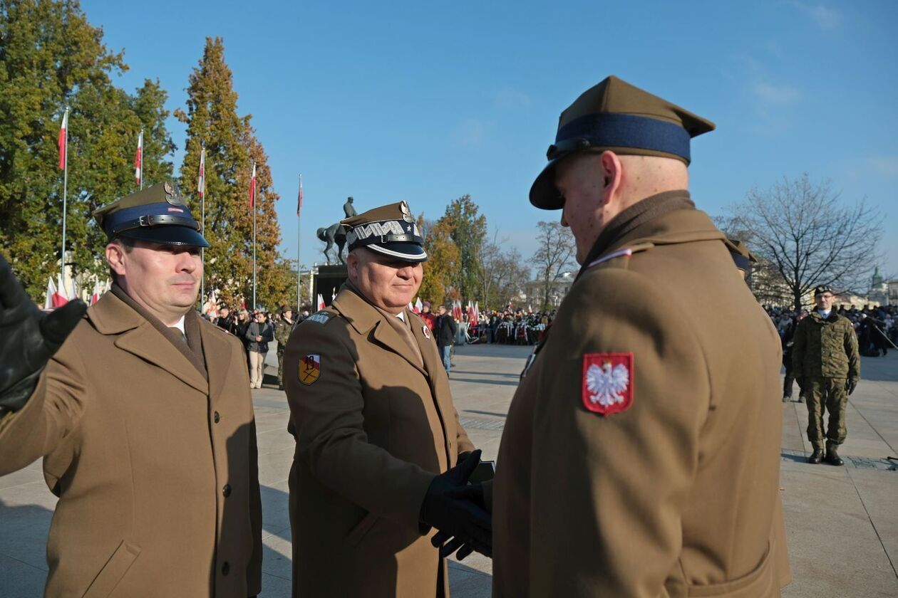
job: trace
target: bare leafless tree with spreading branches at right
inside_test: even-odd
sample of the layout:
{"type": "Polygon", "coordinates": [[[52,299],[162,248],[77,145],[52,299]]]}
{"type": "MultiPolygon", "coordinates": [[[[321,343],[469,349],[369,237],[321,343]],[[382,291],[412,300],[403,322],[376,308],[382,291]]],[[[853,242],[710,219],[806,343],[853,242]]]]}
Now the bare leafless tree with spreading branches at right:
{"type": "Polygon", "coordinates": [[[867,289],[882,220],[863,200],[841,203],[829,181],[783,178],[770,189],[753,189],[729,212],[733,228],[779,273],[796,309],[820,284],[867,289]]]}

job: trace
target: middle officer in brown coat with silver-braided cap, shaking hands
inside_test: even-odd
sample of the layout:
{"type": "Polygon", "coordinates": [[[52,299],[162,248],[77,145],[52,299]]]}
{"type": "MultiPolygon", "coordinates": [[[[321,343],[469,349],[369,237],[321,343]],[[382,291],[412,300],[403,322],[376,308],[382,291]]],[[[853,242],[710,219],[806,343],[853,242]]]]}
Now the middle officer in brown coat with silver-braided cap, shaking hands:
{"type": "Polygon", "coordinates": [[[284,357],[294,595],[447,596],[428,527],[489,554],[489,513],[482,491],[453,497],[480,451],[434,334],[408,309],[427,253],[405,202],[341,223],[348,282],[284,357]]]}

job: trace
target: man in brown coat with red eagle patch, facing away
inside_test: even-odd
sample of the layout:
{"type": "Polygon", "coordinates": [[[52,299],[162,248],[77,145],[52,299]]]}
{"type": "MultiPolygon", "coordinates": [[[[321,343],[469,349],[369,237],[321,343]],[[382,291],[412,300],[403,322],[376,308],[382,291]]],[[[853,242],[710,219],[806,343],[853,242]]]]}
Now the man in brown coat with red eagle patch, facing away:
{"type": "Polygon", "coordinates": [[[779,339],[695,209],[713,125],[609,77],[561,114],[531,202],[582,269],[511,403],[496,596],[779,595],[779,339]]]}

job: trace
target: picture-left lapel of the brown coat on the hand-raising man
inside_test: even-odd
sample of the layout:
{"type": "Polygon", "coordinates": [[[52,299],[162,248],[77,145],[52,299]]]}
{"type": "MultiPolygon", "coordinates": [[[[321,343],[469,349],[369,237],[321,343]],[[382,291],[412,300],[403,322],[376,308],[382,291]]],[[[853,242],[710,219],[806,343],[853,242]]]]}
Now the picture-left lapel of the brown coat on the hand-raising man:
{"type": "Polygon", "coordinates": [[[118,334],[115,346],[148,361],[205,394],[206,380],[152,324],[112,293],[88,309],[87,316],[101,334],[118,334]]]}

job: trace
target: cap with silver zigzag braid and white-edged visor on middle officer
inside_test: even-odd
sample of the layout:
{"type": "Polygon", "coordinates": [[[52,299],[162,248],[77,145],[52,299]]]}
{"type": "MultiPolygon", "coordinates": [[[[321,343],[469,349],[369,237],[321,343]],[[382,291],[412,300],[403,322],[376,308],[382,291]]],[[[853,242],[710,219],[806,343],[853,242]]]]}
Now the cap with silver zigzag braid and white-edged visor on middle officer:
{"type": "Polygon", "coordinates": [[[427,252],[409,204],[383,205],[339,222],[347,228],[349,251],[365,247],[406,262],[425,262],[427,252]]]}

